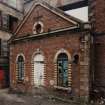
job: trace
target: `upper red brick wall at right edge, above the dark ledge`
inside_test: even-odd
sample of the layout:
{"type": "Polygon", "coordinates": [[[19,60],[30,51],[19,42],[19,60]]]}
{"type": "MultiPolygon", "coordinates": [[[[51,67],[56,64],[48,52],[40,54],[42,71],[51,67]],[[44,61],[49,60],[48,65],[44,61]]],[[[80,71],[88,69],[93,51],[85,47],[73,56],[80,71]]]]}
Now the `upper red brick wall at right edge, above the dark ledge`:
{"type": "Polygon", "coordinates": [[[104,7],[105,1],[102,0],[89,0],[89,21],[92,24],[92,32],[104,32],[104,7]]]}

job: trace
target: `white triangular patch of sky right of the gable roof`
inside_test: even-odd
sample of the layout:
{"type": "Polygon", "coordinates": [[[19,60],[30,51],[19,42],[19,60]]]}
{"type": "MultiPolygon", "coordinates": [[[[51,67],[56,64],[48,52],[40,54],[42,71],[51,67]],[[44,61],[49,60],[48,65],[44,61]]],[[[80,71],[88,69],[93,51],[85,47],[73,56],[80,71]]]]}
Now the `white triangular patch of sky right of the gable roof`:
{"type": "Polygon", "coordinates": [[[88,21],[88,7],[82,7],[74,10],[66,11],[67,14],[79,18],[80,20],[87,22],[88,21]]]}

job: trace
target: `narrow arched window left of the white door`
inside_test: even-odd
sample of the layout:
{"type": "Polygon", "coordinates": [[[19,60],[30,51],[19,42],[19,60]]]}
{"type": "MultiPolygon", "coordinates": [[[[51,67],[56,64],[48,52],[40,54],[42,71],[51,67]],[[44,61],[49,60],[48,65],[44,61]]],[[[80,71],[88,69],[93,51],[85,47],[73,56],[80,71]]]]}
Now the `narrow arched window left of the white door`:
{"type": "Polygon", "coordinates": [[[24,80],[24,58],[23,56],[19,56],[17,60],[17,72],[18,72],[18,80],[24,80]]]}

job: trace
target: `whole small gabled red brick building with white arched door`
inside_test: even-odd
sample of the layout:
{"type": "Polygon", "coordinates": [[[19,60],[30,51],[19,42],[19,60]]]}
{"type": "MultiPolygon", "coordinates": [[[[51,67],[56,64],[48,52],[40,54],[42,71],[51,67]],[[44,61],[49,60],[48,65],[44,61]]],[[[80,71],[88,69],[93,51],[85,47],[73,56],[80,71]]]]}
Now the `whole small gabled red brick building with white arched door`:
{"type": "MultiPolygon", "coordinates": [[[[89,25],[35,2],[10,40],[10,84],[89,96],[89,25]]],[[[71,95],[72,95],[71,94],[71,95]]]]}

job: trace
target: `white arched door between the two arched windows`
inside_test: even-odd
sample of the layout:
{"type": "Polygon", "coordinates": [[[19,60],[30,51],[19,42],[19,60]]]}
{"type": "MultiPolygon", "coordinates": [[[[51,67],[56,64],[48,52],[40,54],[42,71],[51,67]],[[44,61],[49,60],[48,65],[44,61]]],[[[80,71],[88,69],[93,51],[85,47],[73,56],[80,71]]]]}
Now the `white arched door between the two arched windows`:
{"type": "Polygon", "coordinates": [[[44,56],[42,54],[34,56],[34,85],[44,85],[44,56]]]}

